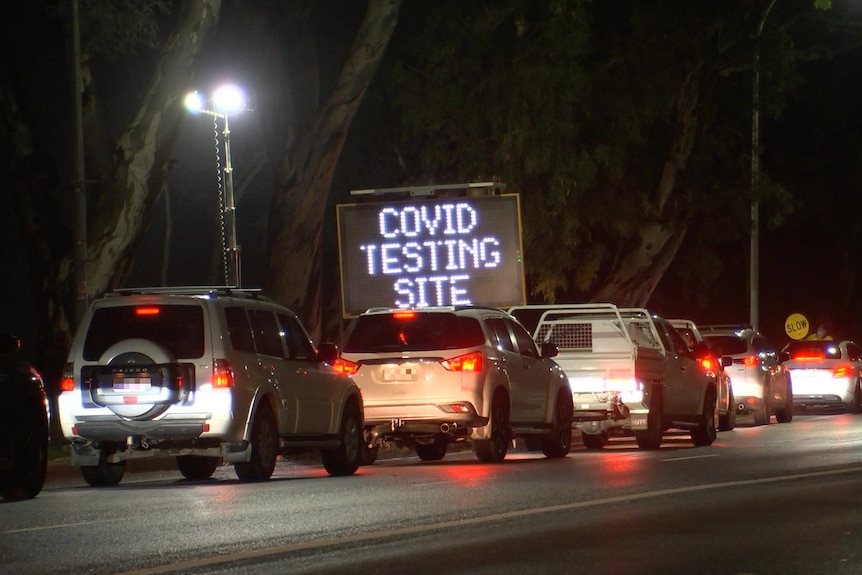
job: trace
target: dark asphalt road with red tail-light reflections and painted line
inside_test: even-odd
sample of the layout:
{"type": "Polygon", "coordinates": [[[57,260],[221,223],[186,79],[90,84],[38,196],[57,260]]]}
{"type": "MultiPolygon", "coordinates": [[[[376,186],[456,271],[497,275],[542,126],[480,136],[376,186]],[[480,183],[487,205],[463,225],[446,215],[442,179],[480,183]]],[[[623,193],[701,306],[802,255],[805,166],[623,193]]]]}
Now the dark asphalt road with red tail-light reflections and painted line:
{"type": "Polygon", "coordinates": [[[0,504],[4,572],[862,573],[862,415],[743,422],[706,448],[392,457],[343,478],[313,462],[259,484],[230,467],[109,489],[60,475],[0,504]]]}

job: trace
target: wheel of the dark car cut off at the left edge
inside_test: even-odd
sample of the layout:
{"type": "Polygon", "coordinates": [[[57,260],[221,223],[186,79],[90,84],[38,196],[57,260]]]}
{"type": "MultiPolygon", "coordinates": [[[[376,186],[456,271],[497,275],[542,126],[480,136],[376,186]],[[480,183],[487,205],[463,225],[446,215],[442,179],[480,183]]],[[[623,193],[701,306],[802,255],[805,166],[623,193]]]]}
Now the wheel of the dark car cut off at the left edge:
{"type": "Polygon", "coordinates": [[[0,498],[33,499],[45,484],[48,467],[48,421],[41,405],[31,405],[18,418],[12,445],[12,468],[0,475],[0,498]]]}

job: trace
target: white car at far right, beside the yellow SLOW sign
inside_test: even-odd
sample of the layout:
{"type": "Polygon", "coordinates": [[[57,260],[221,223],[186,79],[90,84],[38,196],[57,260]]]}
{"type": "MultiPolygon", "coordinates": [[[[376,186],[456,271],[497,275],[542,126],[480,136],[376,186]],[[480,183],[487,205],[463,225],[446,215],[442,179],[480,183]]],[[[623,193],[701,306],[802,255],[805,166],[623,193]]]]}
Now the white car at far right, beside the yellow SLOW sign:
{"type": "Polygon", "coordinates": [[[862,348],[852,341],[802,340],[782,350],[793,378],[793,405],[862,412],[862,348]]]}

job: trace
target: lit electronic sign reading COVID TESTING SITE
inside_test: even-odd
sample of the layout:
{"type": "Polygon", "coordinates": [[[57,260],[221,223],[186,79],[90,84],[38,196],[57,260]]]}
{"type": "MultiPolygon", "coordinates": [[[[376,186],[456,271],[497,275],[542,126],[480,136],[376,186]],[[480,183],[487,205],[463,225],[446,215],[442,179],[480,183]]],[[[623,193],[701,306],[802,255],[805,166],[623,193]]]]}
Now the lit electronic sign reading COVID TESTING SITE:
{"type": "Polygon", "coordinates": [[[525,301],[517,194],[342,204],[337,216],[345,316],[525,301]]]}

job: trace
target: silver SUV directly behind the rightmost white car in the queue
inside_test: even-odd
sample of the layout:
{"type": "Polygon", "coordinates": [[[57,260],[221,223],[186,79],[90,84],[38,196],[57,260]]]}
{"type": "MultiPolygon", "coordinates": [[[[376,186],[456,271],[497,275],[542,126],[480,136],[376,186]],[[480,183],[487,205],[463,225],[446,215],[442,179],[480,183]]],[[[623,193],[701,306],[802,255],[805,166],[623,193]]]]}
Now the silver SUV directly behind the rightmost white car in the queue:
{"type": "Polygon", "coordinates": [[[733,381],[738,414],[752,414],[755,425],[767,425],[772,415],[778,423],[793,419],[793,386],[790,372],[779,362],[778,351],[766,337],[749,326],[699,326],[709,346],[732,363],[724,368],[733,381]]]}

